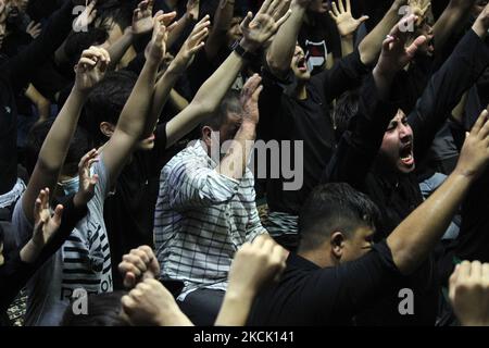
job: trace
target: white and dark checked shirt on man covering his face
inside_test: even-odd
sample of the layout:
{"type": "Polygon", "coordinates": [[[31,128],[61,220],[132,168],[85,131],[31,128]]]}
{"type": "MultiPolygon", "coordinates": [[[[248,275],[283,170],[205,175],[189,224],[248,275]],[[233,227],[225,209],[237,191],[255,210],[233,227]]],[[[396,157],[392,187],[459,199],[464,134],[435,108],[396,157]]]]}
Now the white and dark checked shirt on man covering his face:
{"type": "Polygon", "coordinates": [[[198,288],[225,290],[237,249],[266,232],[251,171],[236,181],[216,166],[197,141],[161,172],[154,243],[161,276],[185,284],[180,300],[198,288]]]}

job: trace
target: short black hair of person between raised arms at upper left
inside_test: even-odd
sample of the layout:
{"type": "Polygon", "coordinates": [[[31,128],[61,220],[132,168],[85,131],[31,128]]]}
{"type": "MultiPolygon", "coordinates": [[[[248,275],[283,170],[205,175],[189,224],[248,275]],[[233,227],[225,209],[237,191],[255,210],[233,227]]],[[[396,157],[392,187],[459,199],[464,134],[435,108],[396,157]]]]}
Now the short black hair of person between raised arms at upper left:
{"type": "Polygon", "coordinates": [[[100,132],[100,124],[117,124],[136,80],[137,76],[131,72],[110,72],[88,95],[80,125],[90,132],[98,144],[106,140],[100,132]]]}

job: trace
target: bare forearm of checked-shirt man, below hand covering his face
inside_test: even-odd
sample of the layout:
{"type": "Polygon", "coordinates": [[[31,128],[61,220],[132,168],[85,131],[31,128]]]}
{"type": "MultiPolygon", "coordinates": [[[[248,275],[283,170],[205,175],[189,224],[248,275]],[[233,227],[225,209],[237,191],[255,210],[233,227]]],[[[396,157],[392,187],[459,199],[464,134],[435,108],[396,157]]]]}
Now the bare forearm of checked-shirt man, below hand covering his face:
{"type": "Polygon", "coordinates": [[[227,177],[237,181],[241,179],[244,175],[255,137],[256,124],[243,121],[217,171],[227,177]]]}

